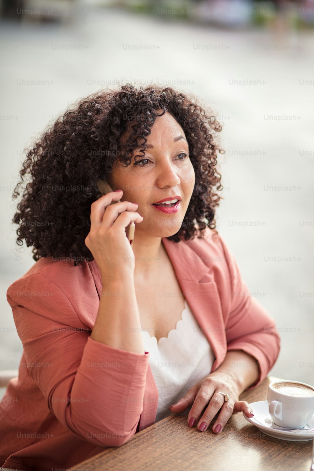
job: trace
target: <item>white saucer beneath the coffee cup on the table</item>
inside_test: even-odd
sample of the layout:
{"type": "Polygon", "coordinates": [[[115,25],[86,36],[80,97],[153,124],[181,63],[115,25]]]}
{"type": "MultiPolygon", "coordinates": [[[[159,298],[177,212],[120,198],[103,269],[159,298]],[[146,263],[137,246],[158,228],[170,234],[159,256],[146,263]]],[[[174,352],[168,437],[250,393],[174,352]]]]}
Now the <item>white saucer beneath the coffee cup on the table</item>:
{"type": "MultiPolygon", "coordinates": [[[[254,417],[249,418],[244,413],[243,416],[248,422],[255,425],[261,432],[266,433],[266,435],[274,437],[275,439],[290,441],[307,441],[314,439],[314,431],[312,430],[300,429],[297,432],[287,432],[286,430],[278,430],[273,428],[277,426],[271,422],[267,401],[251,402],[250,407],[253,411],[254,417]]],[[[314,429],[314,415],[308,422],[308,426],[311,429],[314,429]]]]}

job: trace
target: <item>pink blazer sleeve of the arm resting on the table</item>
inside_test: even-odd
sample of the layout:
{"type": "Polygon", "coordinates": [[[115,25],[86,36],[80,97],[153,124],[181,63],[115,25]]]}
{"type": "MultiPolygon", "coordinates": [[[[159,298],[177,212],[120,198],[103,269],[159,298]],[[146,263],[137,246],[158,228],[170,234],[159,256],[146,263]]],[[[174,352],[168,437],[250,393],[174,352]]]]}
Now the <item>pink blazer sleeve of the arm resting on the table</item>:
{"type": "MultiPolygon", "coordinates": [[[[258,380],[247,390],[256,387],[266,378],[280,350],[280,337],[273,317],[249,295],[237,263],[228,246],[220,237],[231,281],[230,303],[226,319],[227,350],[243,350],[256,358],[259,367],[258,380]]],[[[235,368],[244,365],[234,365],[235,368]]]]}

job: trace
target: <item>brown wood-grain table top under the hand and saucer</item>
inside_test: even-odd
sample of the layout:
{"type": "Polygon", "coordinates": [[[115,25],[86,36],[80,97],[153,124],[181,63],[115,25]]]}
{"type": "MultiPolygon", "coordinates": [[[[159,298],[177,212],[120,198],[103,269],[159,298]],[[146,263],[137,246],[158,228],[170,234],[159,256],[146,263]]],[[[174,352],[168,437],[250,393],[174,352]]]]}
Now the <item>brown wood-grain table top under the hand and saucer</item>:
{"type": "MultiPolygon", "coordinates": [[[[266,400],[270,376],[240,399],[266,400]]],[[[214,423],[214,422],[212,422],[214,423]]],[[[232,415],[221,434],[211,426],[200,432],[187,426],[187,416],[170,415],[136,433],[121,447],[79,463],[86,471],[310,471],[313,440],[293,442],[269,437],[243,417],[232,415]]]]}

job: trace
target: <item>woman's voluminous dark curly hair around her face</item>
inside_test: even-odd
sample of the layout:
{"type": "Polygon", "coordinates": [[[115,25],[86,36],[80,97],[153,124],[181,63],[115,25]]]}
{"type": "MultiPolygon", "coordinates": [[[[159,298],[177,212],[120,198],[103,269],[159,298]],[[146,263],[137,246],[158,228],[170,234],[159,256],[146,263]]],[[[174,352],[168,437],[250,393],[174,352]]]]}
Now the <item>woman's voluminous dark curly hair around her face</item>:
{"type": "Polygon", "coordinates": [[[136,88],[128,83],[93,93],[68,107],[28,150],[19,172],[22,181],[16,184],[13,198],[20,195],[17,188],[25,174],[31,175],[31,181],[12,219],[19,224],[16,244],[23,245],[25,239],[27,247],[33,246],[36,261],[65,257],[77,266],[82,260],[94,260],[84,241],[90,230],[90,205],[101,196],[97,179],[105,180],[117,159],[128,166],[134,149],[140,148],[143,156],[146,138],[160,116],[158,110],[168,111],[184,130],[195,172],[181,228],[167,238],[174,242],[183,236],[185,240],[195,235],[203,238],[207,226],[215,229],[215,207],[221,198],[215,191],[223,188],[217,153],[224,151],[214,142],[213,133],[221,131],[222,124],[195,101],[192,94],[171,87],[136,88]],[[129,129],[122,145],[121,136],[129,129]]]}

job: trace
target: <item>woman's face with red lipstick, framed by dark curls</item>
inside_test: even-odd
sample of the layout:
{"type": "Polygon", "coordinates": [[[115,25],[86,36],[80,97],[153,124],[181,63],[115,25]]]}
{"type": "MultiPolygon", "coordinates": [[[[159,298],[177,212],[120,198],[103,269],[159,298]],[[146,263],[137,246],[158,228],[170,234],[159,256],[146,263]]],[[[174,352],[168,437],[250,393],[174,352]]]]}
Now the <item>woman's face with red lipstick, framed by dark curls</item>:
{"type": "Polygon", "coordinates": [[[151,147],[144,157],[137,156],[135,161],[134,156],[139,153],[136,149],[129,166],[122,167],[118,162],[107,181],[113,190],[123,191],[121,201],[138,204],[137,212],[144,219],[136,225],[137,234],[141,231],[169,237],[180,229],[194,189],[189,148],[183,129],[168,112],[156,118],[146,144],[151,147]],[[153,206],[164,198],[178,197],[181,200],[177,212],[162,212],[153,206]]]}

